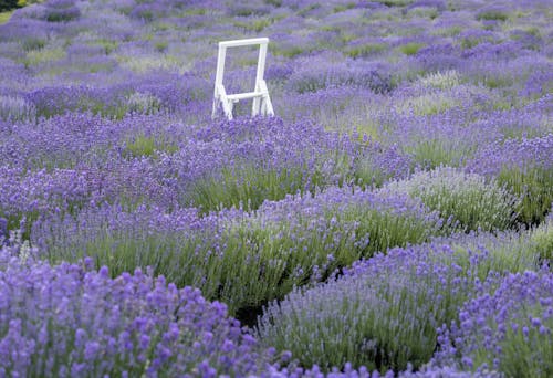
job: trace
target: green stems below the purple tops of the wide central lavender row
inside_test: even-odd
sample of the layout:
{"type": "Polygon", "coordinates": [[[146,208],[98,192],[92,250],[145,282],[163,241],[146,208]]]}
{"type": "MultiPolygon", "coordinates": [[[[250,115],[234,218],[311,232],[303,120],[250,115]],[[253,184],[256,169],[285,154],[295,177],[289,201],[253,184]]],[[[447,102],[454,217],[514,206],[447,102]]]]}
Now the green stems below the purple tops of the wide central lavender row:
{"type": "Polygon", "coordinates": [[[291,209],[280,220],[265,218],[263,212],[221,217],[216,224],[190,230],[157,230],[147,220],[115,229],[107,227],[117,222],[108,216],[105,225],[80,221],[74,225],[76,233],[69,235],[64,220],[60,230],[49,231],[41,242],[48,245],[45,258],[53,263],[91,256],[98,267],[107,265],[113,276],[152,266],[155,275],[223,301],[236,315],[246,308],[259,311],[294,286],[324,281],[336,269],[375,251],[420,243],[437,233],[436,220],[419,214],[395,213],[368,203],[352,202],[343,211],[337,206],[325,204],[319,216],[291,209]]]}

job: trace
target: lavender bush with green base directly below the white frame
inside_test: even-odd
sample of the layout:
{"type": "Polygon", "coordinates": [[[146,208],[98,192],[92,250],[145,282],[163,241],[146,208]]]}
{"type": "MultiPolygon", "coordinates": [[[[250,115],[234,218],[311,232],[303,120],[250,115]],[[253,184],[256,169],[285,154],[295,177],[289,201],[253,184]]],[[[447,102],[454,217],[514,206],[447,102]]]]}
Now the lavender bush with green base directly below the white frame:
{"type": "Polygon", "coordinates": [[[253,210],[265,199],[341,183],[355,154],[347,137],[311,122],[278,118],[219,123],[198,130],[196,139],[173,159],[176,167],[188,166],[177,174],[188,188],[184,204],[205,212],[232,206],[253,210]]]}

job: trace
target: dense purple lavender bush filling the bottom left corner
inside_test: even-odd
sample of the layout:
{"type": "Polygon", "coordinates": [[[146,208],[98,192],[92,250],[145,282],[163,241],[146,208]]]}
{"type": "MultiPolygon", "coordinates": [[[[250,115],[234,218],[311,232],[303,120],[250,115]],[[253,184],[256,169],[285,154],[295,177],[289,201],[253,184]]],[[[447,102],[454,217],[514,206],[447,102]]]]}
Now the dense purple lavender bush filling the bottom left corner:
{"type": "Polygon", "coordinates": [[[1,375],[246,376],[271,360],[196,288],[140,270],[112,280],[90,260],[51,267],[1,253],[1,375]]]}

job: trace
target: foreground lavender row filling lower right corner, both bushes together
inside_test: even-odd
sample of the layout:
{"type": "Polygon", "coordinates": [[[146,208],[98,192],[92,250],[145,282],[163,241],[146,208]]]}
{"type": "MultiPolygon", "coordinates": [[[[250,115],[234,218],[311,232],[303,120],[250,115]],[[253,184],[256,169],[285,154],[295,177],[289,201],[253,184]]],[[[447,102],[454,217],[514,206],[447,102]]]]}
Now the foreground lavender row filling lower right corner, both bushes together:
{"type": "Polygon", "coordinates": [[[551,272],[539,269],[546,245],[540,238],[463,235],[393,249],[355,263],[335,282],[271,303],[258,334],[264,345],[291,350],[296,366],[316,365],[314,372],[300,369],[307,376],[413,368],[421,370],[407,376],[546,376],[551,272]],[[520,333],[529,322],[532,344],[520,333]],[[504,330],[511,327],[519,332],[513,338],[504,330]]]}

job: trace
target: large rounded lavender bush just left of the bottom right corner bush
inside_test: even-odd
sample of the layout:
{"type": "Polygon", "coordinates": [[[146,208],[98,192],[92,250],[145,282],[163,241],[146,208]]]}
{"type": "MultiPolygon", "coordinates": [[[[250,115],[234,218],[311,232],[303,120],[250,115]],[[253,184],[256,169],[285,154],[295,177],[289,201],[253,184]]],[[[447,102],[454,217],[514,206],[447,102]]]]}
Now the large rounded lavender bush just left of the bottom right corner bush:
{"type": "MultiPolygon", "coordinates": [[[[490,249],[510,241],[487,239],[480,241],[490,249]]],[[[482,244],[472,248],[476,243],[480,244],[442,241],[393,249],[355,263],[345,277],[295,290],[267,306],[259,337],[278,350],[291,350],[300,366],[316,364],[323,371],[342,369],[346,363],[369,371],[405,370],[409,363],[420,367],[437,347],[437,328],[457,319],[479,280],[504,269],[536,266],[535,255],[524,250],[490,253],[482,244]]]]}

